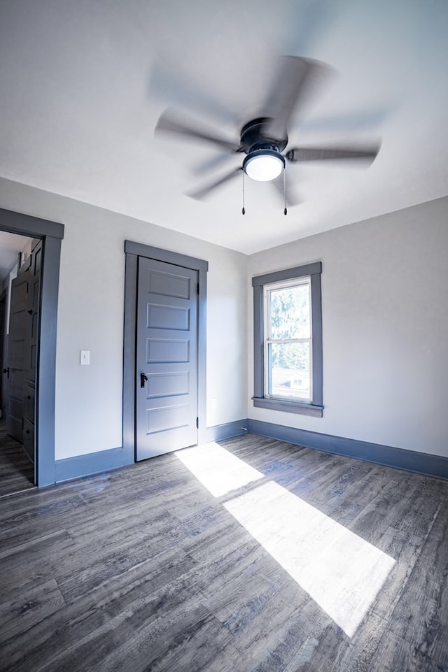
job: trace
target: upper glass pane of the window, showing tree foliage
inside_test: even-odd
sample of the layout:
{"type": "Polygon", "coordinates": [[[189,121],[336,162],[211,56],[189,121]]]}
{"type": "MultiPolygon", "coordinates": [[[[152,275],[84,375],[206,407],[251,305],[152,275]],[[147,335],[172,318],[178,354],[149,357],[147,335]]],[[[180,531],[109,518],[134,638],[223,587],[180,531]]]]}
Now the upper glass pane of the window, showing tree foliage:
{"type": "Polygon", "coordinates": [[[311,338],[309,285],[269,291],[269,338],[311,338]]]}

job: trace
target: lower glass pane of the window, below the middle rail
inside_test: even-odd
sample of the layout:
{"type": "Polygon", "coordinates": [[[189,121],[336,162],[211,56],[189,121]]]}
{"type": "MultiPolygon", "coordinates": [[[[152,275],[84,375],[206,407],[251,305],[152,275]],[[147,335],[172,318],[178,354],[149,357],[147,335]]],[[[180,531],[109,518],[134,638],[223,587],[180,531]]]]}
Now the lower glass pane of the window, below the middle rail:
{"type": "Polygon", "coordinates": [[[269,343],[267,394],[311,399],[310,343],[269,343]]]}

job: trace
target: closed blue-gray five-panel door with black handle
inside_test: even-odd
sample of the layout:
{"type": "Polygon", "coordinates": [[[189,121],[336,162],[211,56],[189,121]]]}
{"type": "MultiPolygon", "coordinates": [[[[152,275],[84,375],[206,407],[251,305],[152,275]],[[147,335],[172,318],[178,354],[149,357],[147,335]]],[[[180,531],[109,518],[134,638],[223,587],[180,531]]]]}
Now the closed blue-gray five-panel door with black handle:
{"type": "Polygon", "coordinates": [[[198,272],[139,257],[136,459],[197,443],[198,272]]]}

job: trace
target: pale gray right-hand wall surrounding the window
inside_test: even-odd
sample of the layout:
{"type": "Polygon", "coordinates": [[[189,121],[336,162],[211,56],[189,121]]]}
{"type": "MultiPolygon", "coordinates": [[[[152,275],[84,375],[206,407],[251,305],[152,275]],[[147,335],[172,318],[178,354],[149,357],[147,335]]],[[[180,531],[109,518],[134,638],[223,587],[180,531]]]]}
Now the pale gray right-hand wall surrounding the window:
{"type": "Polygon", "coordinates": [[[248,259],[251,277],[321,260],[323,418],[248,417],[448,457],[448,198],[302,238],[248,259]]]}

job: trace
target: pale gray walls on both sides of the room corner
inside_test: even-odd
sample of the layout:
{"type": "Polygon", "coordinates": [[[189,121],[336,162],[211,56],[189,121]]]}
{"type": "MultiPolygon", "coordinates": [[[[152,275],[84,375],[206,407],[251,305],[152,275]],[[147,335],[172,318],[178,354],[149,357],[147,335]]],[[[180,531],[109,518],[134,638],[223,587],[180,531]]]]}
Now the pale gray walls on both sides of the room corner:
{"type": "Polygon", "coordinates": [[[448,199],[251,257],[3,179],[0,206],[65,225],[56,459],[121,445],[125,239],[209,261],[209,427],[251,417],[448,456],[448,199]],[[255,409],[251,277],[317,260],[324,417],[255,409]]]}

